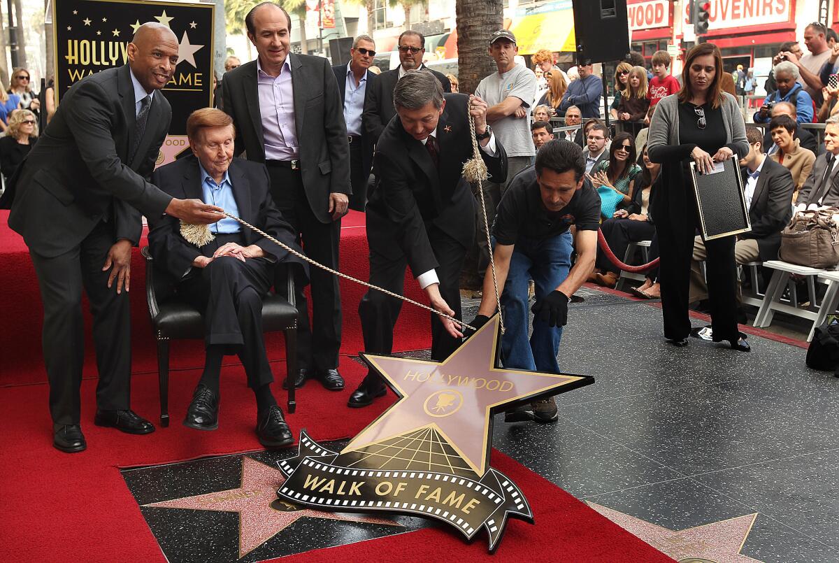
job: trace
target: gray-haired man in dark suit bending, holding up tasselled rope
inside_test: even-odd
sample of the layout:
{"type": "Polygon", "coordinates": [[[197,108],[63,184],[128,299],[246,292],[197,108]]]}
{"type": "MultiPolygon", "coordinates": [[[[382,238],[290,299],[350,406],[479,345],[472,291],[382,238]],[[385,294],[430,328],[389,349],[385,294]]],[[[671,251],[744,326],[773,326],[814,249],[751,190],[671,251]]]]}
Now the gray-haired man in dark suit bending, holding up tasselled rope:
{"type": "MultiPolygon", "coordinates": [[[[481,157],[493,181],[507,177],[507,154],[487,126],[487,103],[445,94],[428,70],[409,70],[393,91],[398,119],[391,120],[373,156],[376,183],[367,201],[370,283],[403,292],[405,266],[425,289],[431,306],[461,318],[458,288],[466,250],[475,236],[475,198],[463,178],[472,158],[469,116],[481,157]]],[[[370,289],[358,306],[364,350],[388,354],[401,301],[370,289]]],[[[452,321],[431,315],[431,357],[443,360],[460,346],[452,321]]],[[[368,373],[349,400],[363,407],[385,394],[382,380],[368,373]]]]}

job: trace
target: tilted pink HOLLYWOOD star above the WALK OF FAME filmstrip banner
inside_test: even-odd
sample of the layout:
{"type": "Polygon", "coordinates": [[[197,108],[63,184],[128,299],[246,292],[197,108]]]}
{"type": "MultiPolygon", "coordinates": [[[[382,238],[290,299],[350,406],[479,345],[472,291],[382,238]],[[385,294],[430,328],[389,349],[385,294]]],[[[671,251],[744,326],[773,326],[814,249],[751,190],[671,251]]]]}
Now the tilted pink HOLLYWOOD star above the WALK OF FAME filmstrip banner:
{"type": "Polygon", "coordinates": [[[482,476],[489,461],[491,409],[592,378],[495,367],[498,315],[443,362],[362,354],[399,394],[399,401],[347,444],[342,453],[432,427],[482,476]]]}

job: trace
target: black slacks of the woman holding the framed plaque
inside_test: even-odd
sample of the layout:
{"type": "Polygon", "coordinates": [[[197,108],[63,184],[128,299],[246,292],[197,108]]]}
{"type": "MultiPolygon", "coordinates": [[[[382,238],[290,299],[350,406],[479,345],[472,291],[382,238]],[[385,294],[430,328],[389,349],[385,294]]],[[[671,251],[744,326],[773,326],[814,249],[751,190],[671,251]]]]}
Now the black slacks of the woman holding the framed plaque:
{"type": "MultiPolygon", "coordinates": [[[[693,239],[700,225],[696,204],[688,203],[680,214],[656,214],[661,263],[661,304],[664,337],[686,338],[690,335],[688,300],[690,295],[690,259],[693,239]],[[681,224],[680,224],[681,222],[681,224]]],[[[734,261],[736,237],[706,241],[708,259],[708,300],[715,341],[737,340],[737,264],[734,261]]]]}

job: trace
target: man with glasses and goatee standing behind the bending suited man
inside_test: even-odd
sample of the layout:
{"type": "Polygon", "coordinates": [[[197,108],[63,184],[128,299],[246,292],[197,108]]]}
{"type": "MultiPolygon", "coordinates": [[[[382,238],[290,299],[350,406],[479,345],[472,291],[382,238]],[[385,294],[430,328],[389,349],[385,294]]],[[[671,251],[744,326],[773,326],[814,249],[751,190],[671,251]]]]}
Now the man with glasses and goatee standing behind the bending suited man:
{"type": "MultiPolygon", "coordinates": [[[[425,55],[425,36],[418,31],[405,31],[399,35],[397,43],[399,49],[399,66],[393,70],[383,72],[378,76],[376,85],[371,85],[367,91],[367,99],[364,101],[364,130],[373,137],[373,143],[378,141],[384,127],[390,122],[396,110],[393,108],[393,88],[396,82],[405,76],[409,70],[425,69],[422,62],[425,55]]],[[[444,92],[451,92],[451,82],[445,75],[431,70],[444,92]]]]}

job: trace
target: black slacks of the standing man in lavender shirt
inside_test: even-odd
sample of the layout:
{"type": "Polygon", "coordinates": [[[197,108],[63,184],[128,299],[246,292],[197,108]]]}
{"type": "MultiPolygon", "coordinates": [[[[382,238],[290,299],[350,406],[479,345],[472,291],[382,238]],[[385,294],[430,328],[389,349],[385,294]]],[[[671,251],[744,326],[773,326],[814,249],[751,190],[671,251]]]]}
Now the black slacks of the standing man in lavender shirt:
{"type": "MultiPolygon", "coordinates": [[[[268,165],[271,178],[271,198],[283,218],[297,232],[297,242],[306,255],[332,269],[338,269],[338,241],[341,220],[324,224],[312,213],[306,198],[300,170],[268,165]]],[[[288,293],[285,266],[276,268],[274,290],[278,295],[288,293]]],[[[341,347],[341,289],[336,276],[311,267],[309,274],[312,298],[312,319],[303,293],[303,284],[296,284],[295,303],[298,310],[297,349],[301,369],[333,369],[338,367],[341,347]]]]}

